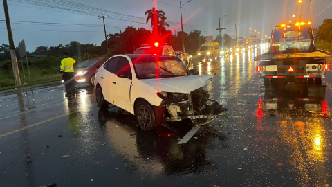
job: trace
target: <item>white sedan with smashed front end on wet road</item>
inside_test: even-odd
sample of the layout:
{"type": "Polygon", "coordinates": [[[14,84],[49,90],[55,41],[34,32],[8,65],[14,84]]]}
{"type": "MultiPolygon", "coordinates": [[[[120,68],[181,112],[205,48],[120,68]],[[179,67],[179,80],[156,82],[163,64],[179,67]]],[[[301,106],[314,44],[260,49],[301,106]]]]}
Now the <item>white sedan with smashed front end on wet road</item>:
{"type": "Polygon", "coordinates": [[[177,57],[116,55],[95,74],[95,97],[100,108],[111,103],[135,115],[142,130],[186,118],[205,125],[225,111],[203,89],[212,78],[177,57]]]}

